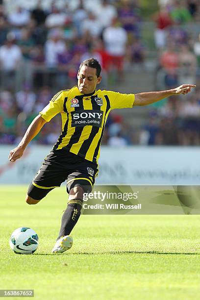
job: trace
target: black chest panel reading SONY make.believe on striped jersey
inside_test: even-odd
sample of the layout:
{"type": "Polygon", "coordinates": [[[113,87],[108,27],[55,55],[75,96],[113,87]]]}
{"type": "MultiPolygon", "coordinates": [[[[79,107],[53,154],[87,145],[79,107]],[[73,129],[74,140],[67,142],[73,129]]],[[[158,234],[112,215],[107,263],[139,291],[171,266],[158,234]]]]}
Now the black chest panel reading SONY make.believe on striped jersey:
{"type": "Polygon", "coordinates": [[[79,110],[72,112],[72,127],[87,125],[101,127],[103,111],[101,110],[79,110]]]}

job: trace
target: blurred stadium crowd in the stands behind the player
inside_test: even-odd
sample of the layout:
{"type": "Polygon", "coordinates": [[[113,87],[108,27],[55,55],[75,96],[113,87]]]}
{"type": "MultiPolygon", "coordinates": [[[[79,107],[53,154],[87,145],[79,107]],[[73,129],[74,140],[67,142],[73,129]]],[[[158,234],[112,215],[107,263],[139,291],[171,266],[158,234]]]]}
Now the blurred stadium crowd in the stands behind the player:
{"type": "MultiPolygon", "coordinates": [[[[159,57],[155,88],[197,82],[200,32],[191,35],[188,25],[200,21],[199,2],[158,0],[158,12],[150,17],[159,57]]],[[[148,58],[140,0],[52,1],[45,8],[43,4],[41,0],[31,9],[16,5],[12,10],[0,5],[1,144],[16,144],[53,94],[76,84],[82,60],[100,61],[100,88],[109,89],[110,83],[125,82],[125,66],[144,67],[148,58]]],[[[32,143],[55,143],[60,126],[60,118],[53,118],[32,143]]],[[[200,90],[182,100],[151,105],[149,120],[141,128],[132,128],[112,113],[103,143],[200,145],[200,90]]]]}

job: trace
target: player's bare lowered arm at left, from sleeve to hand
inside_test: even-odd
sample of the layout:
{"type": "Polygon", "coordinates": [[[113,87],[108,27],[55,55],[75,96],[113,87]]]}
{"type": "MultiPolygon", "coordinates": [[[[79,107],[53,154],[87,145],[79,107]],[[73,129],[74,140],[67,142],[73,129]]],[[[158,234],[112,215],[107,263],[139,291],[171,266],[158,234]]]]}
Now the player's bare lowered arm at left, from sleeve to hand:
{"type": "Polygon", "coordinates": [[[16,161],[18,158],[20,158],[26,146],[28,143],[39,133],[40,129],[43,127],[43,125],[46,123],[45,119],[41,117],[41,115],[38,115],[35,117],[35,119],[32,121],[32,123],[29,125],[28,129],[25,132],[25,135],[20,142],[20,144],[10,151],[10,154],[8,156],[8,159],[12,162],[16,161]]]}

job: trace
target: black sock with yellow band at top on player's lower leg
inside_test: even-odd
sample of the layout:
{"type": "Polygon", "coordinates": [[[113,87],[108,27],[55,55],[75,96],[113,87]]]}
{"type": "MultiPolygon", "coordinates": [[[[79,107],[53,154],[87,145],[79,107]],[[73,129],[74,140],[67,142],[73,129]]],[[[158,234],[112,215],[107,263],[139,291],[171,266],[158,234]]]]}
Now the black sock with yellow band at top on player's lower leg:
{"type": "Polygon", "coordinates": [[[80,217],[82,202],[83,200],[81,199],[73,199],[68,201],[67,208],[62,216],[60,232],[57,240],[61,236],[69,235],[71,233],[80,217]]]}

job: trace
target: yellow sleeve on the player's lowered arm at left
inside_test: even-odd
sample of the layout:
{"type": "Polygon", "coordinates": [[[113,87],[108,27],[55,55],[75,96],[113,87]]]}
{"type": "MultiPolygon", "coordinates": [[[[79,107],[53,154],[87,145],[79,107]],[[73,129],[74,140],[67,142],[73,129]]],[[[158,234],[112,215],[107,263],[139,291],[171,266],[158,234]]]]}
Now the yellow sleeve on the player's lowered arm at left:
{"type": "Polygon", "coordinates": [[[49,122],[55,115],[63,111],[63,91],[58,92],[50,103],[40,112],[45,121],[49,122]]]}

